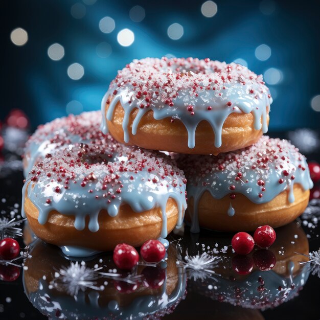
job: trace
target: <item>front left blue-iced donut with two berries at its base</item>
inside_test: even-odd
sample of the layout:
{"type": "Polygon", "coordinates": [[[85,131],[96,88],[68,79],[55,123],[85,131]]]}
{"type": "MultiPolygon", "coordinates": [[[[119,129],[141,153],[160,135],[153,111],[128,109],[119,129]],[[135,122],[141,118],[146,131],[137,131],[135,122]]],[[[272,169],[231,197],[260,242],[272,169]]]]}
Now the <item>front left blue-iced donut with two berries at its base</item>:
{"type": "Polygon", "coordinates": [[[64,254],[90,256],[122,242],[164,240],[184,218],[185,184],[166,155],[104,137],[37,163],[22,189],[22,215],[64,254]]]}

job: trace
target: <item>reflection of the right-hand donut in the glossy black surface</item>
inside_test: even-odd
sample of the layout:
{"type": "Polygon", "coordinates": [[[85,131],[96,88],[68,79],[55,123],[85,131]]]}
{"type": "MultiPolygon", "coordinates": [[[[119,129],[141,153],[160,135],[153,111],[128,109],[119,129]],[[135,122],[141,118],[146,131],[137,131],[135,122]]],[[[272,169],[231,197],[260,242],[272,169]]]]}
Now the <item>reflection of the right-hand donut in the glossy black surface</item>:
{"type": "MultiPolygon", "coordinates": [[[[230,245],[231,238],[211,233],[205,237],[199,236],[196,241],[205,248],[215,248],[216,243],[219,243],[219,247],[230,245]]],[[[186,241],[189,254],[199,250],[199,247],[193,250],[190,247],[189,242],[194,243],[194,240],[186,241]]],[[[310,266],[301,262],[308,261],[308,257],[303,256],[308,253],[309,243],[303,228],[300,224],[291,222],[277,229],[277,239],[268,249],[255,248],[254,252],[247,256],[238,256],[232,253],[231,249],[224,254],[219,253],[223,263],[214,268],[219,276],[213,275],[215,280],[208,277],[203,281],[190,282],[190,292],[194,291],[214,301],[243,308],[275,308],[295,298],[303,289],[310,275],[310,266]],[[262,265],[256,258],[257,253],[260,253],[260,261],[265,266],[268,265],[268,257],[271,254],[276,262],[274,267],[270,270],[261,268],[262,265]],[[239,274],[235,270],[245,265],[243,260],[237,260],[238,257],[251,261],[252,270],[247,275],[239,274]]]]}

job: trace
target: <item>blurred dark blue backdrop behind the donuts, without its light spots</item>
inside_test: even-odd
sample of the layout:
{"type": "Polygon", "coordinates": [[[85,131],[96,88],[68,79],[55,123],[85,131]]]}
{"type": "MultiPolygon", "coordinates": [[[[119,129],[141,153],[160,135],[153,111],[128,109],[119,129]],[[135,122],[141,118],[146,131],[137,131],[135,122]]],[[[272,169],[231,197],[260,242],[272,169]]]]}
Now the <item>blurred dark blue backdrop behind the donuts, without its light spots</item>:
{"type": "Polygon", "coordinates": [[[320,94],[318,1],[216,0],[218,11],[211,18],[201,13],[204,1],[97,0],[93,5],[87,5],[87,1],[1,1],[0,119],[10,109],[21,108],[34,127],[66,115],[66,105],[73,100],[79,102],[78,111],[99,109],[117,70],[134,58],[169,54],[226,62],[241,58],[258,74],[276,68],[282,80],[268,85],[274,99],[270,129],[318,127],[320,112],[310,104],[320,94]],[[85,7],[80,19],[71,14],[76,3],[85,7]],[[136,5],[145,9],[141,22],[129,16],[136,5]],[[108,34],[99,29],[99,21],[105,16],[115,20],[115,30],[108,34]],[[184,28],[178,40],[167,34],[174,22],[184,28]],[[22,47],[10,40],[11,31],[17,27],[28,32],[29,40],[22,47]],[[124,28],[135,36],[129,47],[117,41],[118,32],[124,28]],[[55,42],[65,50],[60,61],[51,60],[47,54],[55,42]],[[111,46],[107,58],[97,55],[101,42],[111,46]],[[255,56],[261,44],[271,48],[266,61],[255,56]],[[74,62],[84,67],[80,80],[67,75],[68,66],[74,62]]]}

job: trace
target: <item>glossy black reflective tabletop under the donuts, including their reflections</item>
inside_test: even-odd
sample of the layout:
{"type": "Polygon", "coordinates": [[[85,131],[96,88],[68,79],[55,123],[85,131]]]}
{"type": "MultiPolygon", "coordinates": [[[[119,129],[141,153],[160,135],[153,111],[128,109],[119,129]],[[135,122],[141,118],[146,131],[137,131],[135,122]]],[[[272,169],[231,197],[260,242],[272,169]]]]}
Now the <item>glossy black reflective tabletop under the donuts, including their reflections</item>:
{"type": "MultiPolygon", "coordinates": [[[[308,159],[319,161],[314,151],[308,159]]],[[[21,164],[14,154],[6,159],[1,223],[5,217],[21,220],[21,164]]],[[[268,252],[255,249],[247,260],[232,253],[232,234],[195,235],[186,226],[170,236],[165,263],[141,265],[130,275],[118,274],[106,254],[70,261],[35,240],[22,222],[14,227],[23,235],[11,230],[12,237],[21,252],[29,245],[28,253],[10,265],[0,260],[0,319],[319,319],[320,265],[302,255],[319,250],[319,203],[312,200],[301,218],[278,228],[268,252]],[[271,270],[261,270],[275,261],[271,270]],[[235,271],[250,264],[247,275],[235,271]]]]}

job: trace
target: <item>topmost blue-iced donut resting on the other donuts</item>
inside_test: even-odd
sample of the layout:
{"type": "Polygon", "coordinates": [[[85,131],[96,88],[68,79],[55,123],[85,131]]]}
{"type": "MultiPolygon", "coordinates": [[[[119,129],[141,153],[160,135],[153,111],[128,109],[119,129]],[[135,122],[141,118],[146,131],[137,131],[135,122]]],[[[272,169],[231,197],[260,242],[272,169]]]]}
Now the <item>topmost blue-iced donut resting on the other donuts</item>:
{"type": "Polygon", "coordinates": [[[247,147],[267,132],[262,76],[210,59],[145,58],[118,72],[101,102],[102,131],[119,142],[187,154],[247,147]]]}

